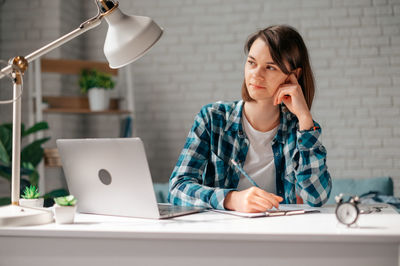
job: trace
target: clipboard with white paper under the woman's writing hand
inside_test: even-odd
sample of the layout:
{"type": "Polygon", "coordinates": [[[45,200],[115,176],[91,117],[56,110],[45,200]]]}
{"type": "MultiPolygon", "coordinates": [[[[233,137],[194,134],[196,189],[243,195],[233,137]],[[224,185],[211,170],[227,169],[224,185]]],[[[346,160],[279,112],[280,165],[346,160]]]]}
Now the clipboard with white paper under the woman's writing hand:
{"type": "Polygon", "coordinates": [[[256,212],[256,213],[237,212],[228,210],[213,210],[213,211],[240,217],[246,217],[246,218],[290,216],[290,215],[320,212],[317,208],[308,207],[307,205],[293,205],[293,204],[287,204],[287,205],[281,204],[279,205],[279,209],[273,208],[266,212],[256,212]]]}

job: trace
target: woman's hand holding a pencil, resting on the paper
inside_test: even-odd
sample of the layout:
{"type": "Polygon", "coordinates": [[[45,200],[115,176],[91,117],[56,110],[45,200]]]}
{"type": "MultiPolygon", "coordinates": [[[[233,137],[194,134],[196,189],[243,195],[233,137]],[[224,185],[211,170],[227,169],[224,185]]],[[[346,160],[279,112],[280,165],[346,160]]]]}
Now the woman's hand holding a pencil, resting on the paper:
{"type": "Polygon", "coordinates": [[[229,192],[225,197],[224,208],[239,212],[265,212],[272,207],[279,208],[279,202],[282,201],[280,196],[251,187],[229,192]]]}

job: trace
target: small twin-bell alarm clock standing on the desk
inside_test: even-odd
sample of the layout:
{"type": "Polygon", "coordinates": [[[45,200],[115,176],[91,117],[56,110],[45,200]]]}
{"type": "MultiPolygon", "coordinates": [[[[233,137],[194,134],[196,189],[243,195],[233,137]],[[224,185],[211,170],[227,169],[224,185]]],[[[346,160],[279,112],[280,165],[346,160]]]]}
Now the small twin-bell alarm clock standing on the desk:
{"type": "Polygon", "coordinates": [[[359,215],[360,209],[358,205],[360,204],[360,199],[358,196],[351,196],[348,200],[344,200],[345,195],[342,193],[335,197],[336,199],[336,218],[342,224],[350,226],[354,224],[359,215]]]}

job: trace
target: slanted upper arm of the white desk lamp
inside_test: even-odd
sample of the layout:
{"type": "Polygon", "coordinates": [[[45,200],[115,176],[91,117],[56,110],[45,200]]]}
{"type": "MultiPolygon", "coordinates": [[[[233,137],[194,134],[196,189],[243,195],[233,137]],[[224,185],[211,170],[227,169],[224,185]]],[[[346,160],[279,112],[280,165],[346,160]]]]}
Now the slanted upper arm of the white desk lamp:
{"type": "MultiPolygon", "coordinates": [[[[82,33],[93,29],[97,26],[100,25],[102,15],[98,14],[97,16],[87,20],[86,22],[82,23],[78,28],[75,30],[71,31],[70,33],[65,34],[64,36],[58,38],[57,40],[43,46],[42,48],[37,49],[36,51],[28,54],[25,59],[28,63],[40,58],[41,56],[53,51],[54,49],[60,47],[66,42],[69,42],[70,40],[75,39],[82,33]]],[[[13,66],[9,64],[8,66],[4,67],[3,69],[0,70],[0,79],[4,78],[5,76],[11,74],[13,71],[13,66]]]]}

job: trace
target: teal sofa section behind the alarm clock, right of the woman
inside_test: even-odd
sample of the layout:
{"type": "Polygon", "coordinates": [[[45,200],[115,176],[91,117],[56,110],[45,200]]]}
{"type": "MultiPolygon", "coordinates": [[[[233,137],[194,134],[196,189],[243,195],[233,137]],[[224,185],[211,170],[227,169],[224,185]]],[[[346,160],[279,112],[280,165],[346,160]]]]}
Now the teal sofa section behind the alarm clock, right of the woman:
{"type": "Polygon", "coordinates": [[[370,191],[377,191],[382,195],[393,195],[393,180],[390,177],[374,178],[332,178],[332,192],[326,204],[335,204],[335,196],[340,193],[361,196],[370,191]]]}

